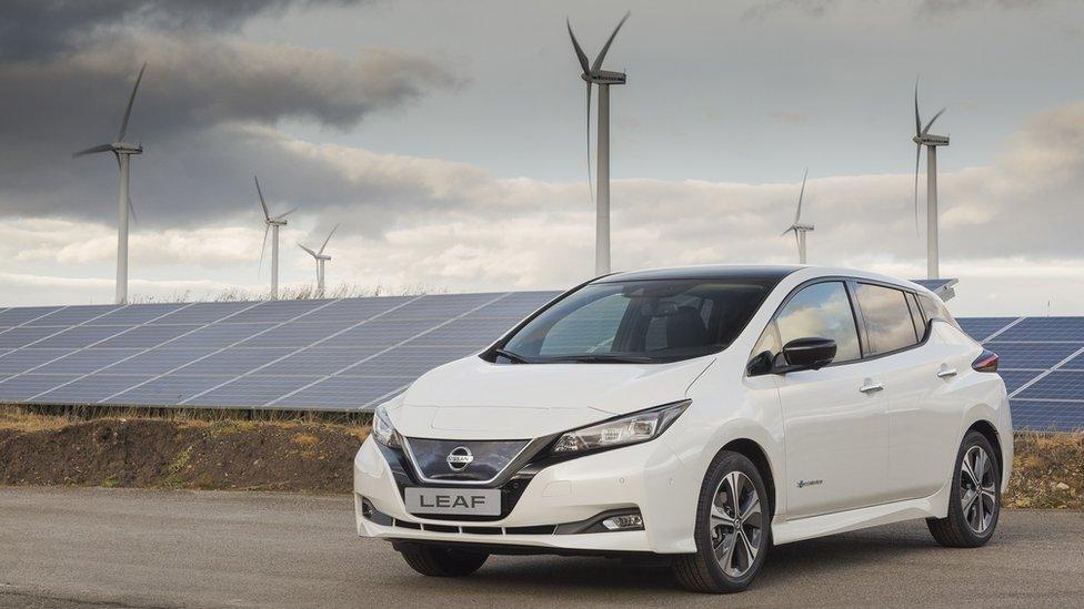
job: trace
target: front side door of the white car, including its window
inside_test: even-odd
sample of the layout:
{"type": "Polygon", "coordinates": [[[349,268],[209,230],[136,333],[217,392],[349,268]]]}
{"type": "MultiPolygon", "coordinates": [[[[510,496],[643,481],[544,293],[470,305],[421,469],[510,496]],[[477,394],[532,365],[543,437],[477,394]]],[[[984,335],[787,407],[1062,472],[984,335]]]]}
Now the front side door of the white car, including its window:
{"type": "Polygon", "coordinates": [[[843,280],[806,285],[780,308],[779,341],[832,338],[835,361],[779,380],[786,458],[787,518],[884,500],[889,427],[881,366],[862,358],[859,326],[843,280]]]}

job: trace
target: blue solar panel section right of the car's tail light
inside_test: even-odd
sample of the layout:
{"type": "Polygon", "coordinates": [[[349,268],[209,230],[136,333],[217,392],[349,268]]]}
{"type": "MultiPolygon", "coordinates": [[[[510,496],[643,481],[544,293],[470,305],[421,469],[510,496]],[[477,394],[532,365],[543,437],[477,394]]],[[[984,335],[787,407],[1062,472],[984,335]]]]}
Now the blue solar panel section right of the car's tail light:
{"type": "Polygon", "coordinates": [[[1001,358],[1018,429],[1084,429],[1084,317],[971,317],[960,325],[1001,358]]]}

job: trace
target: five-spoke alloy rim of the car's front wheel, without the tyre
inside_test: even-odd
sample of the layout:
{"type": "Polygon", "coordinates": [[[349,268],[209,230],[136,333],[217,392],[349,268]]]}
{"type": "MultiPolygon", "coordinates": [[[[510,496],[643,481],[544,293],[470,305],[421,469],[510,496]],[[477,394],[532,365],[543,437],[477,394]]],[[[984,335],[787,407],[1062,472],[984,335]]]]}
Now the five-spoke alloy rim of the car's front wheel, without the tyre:
{"type": "Polygon", "coordinates": [[[764,519],[756,487],[749,476],[731,471],[712,496],[711,538],[715,560],[723,572],[739,578],[756,560],[764,519]]]}

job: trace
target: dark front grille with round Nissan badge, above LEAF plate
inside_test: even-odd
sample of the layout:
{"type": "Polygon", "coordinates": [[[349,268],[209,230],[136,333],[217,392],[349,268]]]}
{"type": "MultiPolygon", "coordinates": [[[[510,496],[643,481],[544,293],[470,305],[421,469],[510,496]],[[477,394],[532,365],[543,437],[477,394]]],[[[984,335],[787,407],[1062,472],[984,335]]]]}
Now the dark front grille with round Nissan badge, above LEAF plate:
{"type": "Polygon", "coordinates": [[[414,467],[424,479],[449,483],[490,481],[529,444],[529,440],[426,438],[406,438],[405,441],[414,467]]]}

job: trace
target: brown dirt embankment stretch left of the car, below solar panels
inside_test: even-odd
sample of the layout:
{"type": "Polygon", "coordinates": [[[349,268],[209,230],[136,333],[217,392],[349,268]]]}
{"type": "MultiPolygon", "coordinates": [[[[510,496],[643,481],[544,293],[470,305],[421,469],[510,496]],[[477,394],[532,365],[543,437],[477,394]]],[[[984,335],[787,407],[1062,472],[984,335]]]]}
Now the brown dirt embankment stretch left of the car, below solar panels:
{"type": "Polygon", "coordinates": [[[0,419],[0,485],[345,493],[365,434],[342,425],[152,418],[20,429],[0,419]]]}

